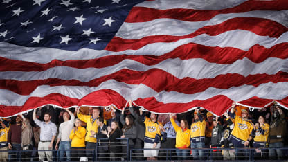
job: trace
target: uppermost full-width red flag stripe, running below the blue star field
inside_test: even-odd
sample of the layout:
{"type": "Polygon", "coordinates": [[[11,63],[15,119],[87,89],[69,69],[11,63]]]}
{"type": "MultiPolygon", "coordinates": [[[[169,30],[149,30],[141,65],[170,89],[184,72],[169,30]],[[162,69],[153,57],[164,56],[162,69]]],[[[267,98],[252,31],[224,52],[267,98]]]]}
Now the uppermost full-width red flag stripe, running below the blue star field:
{"type": "Polygon", "coordinates": [[[149,55],[149,53],[147,53],[147,55],[140,56],[112,55],[91,60],[53,60],[47,64],[10,60],[0,57],[0,62],[3,62],[3,64],[0,66],[0,71],[44,71],[56,66],[69,66],[78,69],[90,67],[103,68],[118,64],[125,59],[135,60],[145,65],[155,65],[159,64],[159,62],[163,62],[163,60],[173,58],[180,58],[181,60],[203,58],[204,60],[211,63],[232,64],[237,60],[243,59],[244,57],[255,63],[263,62],[269,57],[286,59],[288,58],[288,43],[276,44],[272,48],[268,49],[264,48],[263,46],[255,45],[250,48],[249,51],[242,51],[240,49],[231,47],[210,47],[190,43],[179,46],[170,53],[166,53],[161,56],[153,56],[149,55]],[[213,55],[210,55],[209,53],[213,53],[213,55]]]}

